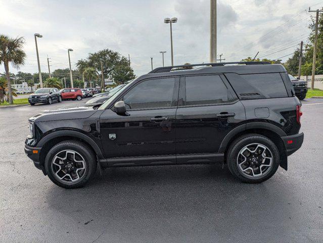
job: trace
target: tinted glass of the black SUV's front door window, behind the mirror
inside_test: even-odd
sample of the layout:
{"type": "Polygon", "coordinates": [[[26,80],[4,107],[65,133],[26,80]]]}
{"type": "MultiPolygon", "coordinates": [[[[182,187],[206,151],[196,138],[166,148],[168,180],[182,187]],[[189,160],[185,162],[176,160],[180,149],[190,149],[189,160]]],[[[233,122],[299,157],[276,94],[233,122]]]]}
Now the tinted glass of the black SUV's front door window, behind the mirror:
{"type": "Polygon", "coordinates": [[[128,109],[170,107],[174,83],[174,78],[144,81],[125,94],[123,101],[128,109]]]}

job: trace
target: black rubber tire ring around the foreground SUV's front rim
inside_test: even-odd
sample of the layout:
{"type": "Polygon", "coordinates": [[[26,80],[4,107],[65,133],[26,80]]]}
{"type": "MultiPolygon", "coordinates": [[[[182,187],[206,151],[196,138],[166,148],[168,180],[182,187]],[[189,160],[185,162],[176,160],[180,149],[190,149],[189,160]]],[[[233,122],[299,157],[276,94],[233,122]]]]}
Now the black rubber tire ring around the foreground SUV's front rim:
{"type": "MultiPolygon", "coordinates": [[[[45,171],[48,174],[48,177],[53,181],[56,185],[60,187],[64,187],[67,189],[70,188],[79,188],[85,185],[85,183],[94,176],[96,170],[97,170],[97,161],[95,154],[93,151],[84,143],[74,141],[74,140],[67,140],[60,142],[56,144],[46,155],[45,158],[45,171]],[[71,150],[79,155],[84,159],[85,163],[85,171],[80,176],[80,179],[76,180],[75,182],[72,181],[66,181],[69,180],[69,178],[66,178],[65,180],[59,179],[58,176],[55,175],[54,166],[53,166],[53,159],[57,154],[64,153],[66,150],[71,150]]],[[[63,167],[63,166],[62,166],[63,167]]],[[[59,168],[61,170],[61,168],[59,168]]],[[[58,171],[59,171],[58,170],[58,171]]],[[[63,168],[64,170],[64,168],[63,168]]],[[[61,171],[63,171],[61,170],[61,171]]],[[[64,174],[63,174],[64,175],[64,174]]],[[[67,177],[67,176],[66,176],[67,177]]]]}

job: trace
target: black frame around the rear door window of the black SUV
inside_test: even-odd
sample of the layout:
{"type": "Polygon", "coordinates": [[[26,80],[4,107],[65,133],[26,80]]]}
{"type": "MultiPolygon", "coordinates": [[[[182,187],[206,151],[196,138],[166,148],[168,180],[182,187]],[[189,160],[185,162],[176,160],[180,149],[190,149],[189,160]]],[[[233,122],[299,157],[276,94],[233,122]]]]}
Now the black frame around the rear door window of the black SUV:
{"type": "Polygon", "coordinates": [[[214,106],[214,105],[231,105],[239,101],[237,94],[234,92],[230,84],[227,82],[226,78],[222,73],[206,73],[206,74],[192,74],[192,75],[181,75],[180,85],[179,85],[179,95],[178,95],[178,108],[179,107],[200,107],[200,106],[214,106]],[[223,103],[210,103],[210,104],[196,104],[196,105],[186,105],[186,77],[191,76],[219,76],[223,85],[226,87],[227,91],[232,95],[234,100],[232,102],[223,103]]]}

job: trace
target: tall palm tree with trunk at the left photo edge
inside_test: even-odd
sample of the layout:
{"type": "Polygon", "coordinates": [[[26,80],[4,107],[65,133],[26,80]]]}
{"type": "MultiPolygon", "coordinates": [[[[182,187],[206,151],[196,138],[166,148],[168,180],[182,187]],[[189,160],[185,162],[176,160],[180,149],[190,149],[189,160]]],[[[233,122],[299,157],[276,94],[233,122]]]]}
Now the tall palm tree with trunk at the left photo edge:
{"type": "Polygon", "coordinates": [[[26,53],[22,50],[25,44],[23,37],[10,38],[7,35],[0,35],[0,65],[2,62],[5,66],[6,78],[8,82],[8,101],[9,104],[13,104],[11,80],[9,75],[9,63],[11,62],[13,67],[19,68],[24,64],[26,53]]]}

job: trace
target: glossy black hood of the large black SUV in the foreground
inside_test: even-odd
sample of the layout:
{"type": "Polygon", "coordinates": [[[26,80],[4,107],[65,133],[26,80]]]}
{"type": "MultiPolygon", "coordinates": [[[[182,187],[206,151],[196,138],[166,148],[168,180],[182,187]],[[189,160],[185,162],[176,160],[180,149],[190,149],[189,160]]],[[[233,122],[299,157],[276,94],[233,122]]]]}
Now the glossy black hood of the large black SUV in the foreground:
{"type": "Polygon", "coordinates": [[[36,114],[29,118],[29,121],[51,121],[51,120],[69,120],[69,119],[84,119],[88,118],[97,110],[93,109],[92,105],[79,105],[59,108],[57,110],[44,110],[43,112],[36,114]]]}

